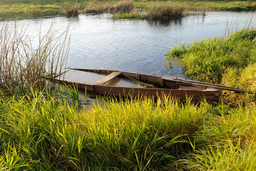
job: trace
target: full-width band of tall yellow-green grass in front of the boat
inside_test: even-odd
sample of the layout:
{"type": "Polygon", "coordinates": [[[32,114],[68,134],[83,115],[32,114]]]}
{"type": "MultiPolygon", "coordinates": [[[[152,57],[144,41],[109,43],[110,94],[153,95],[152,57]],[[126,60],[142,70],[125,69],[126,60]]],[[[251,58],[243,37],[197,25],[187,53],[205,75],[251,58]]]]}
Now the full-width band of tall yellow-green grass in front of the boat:
{"type": "Polygon", "coordinates": [[[150,99],[78,110],[44,93],[0,101],[4,170],[256,169],[256,109],[150,99]]]}

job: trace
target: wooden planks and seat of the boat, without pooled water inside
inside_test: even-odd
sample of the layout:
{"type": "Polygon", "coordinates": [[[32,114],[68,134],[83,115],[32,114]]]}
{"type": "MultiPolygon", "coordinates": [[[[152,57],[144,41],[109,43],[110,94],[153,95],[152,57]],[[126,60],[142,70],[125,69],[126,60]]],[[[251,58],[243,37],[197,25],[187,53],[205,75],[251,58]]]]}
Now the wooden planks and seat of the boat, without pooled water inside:
{"type": "MultiPolygon", "coordinates": [[[[92,91],[100,95],[114,95],[114,96],[147,96],[158,98],[163,95],[171,98],[176,98],[180,101],[186,101],[187,97],[191,97],[193,102],[198,102],[202,99],[211,103],[218,103],[220,90],[212,89],[203,86],[194,86],[193,83],[174,80],[173,76],[164,75],[153,76],[146,74],[137,74],[130,72],[120,72],[115,70],[102,70],[102,69],[74,69],[70,70],[80,71],[79,75],[84,73],[100,74],[103,78],[93,83],[75,82],[75,80],[65,80],[65,76],[62,78],[55,78],[60,84],[66,84],[70,86],[76,86],[78,89],[92,91]],[[84,72],[84,73],[83,73],[84,72]],[[106,76],[105,76],[106,75],[106,76]],[[143,87],[125,87],[125,86],[111,86],[108,84],[114,78],[129,78],[133,82],[140,82],[146,84],[143,87]]],[[[63,74],[62,74],[63,75],[63,74]]]]}

